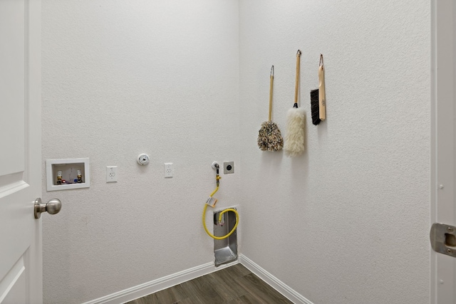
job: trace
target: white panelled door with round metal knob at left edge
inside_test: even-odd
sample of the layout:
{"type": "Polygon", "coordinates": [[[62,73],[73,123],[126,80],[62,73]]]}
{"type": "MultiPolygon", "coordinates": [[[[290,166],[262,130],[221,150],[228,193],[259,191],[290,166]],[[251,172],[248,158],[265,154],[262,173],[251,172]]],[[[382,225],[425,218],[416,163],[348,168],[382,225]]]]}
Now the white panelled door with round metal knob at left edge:
{"type": "Polygon", "coordinates": [[[0,0],[0,303],[43,303],[41,1],[0,0]]]}

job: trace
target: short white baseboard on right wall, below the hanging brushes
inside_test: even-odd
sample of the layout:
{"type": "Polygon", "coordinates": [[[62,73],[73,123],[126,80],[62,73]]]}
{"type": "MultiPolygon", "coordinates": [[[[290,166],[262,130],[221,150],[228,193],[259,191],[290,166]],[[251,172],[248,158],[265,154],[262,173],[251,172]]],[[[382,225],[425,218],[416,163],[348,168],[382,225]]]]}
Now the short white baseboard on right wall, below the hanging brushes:
{"type": "Polygon", "coordinates": [[[247,258],[247,256],[239,254],[239,263],[245,266],[245,268],[249,269],[249,271],[252,271],[252,273],[259,276],[261,280],[271,285],[272,288],[279,291],[279,293],[281,293],[282,295],[284,295],[284,297],[291,300],[291,302],[296,304],[314,304],[310,300],[307,300],[306,298],[304,298],[304,296],[290,288],[289,285],[286,285],[284,282],[280,281],[278,278],[271,275],[271,273],[264,270],[264,268],[261,268],[257,263],[254,263],[254,261],[247,258]]]}

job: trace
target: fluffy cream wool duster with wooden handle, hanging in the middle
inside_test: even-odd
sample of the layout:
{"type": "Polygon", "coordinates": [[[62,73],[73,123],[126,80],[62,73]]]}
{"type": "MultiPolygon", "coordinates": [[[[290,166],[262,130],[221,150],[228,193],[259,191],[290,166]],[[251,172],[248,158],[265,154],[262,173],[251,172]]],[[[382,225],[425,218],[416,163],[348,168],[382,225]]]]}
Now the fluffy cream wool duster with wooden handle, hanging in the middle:
{"type": "Polygon", "coordinates": [[[301,63],[301,51],[296,53],[296,83],[294,88],[294,105],[288,110],[286,117],[286,135],[284,150],[290,157],[298,156],[304,152],[304,126],[306,112],[298,108],[299,67],[301,63]]]}

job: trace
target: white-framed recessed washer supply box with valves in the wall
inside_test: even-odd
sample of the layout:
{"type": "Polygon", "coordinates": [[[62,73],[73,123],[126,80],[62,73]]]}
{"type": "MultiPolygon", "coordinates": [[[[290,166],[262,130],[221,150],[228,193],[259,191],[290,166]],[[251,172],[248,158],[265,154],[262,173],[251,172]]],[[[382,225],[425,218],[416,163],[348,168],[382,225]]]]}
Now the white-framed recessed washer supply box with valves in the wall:
{"type": "Polygon", "coordinates": [[[88,158],[46,159],[46,182],[48,191],[90,187],[88,158]]]}

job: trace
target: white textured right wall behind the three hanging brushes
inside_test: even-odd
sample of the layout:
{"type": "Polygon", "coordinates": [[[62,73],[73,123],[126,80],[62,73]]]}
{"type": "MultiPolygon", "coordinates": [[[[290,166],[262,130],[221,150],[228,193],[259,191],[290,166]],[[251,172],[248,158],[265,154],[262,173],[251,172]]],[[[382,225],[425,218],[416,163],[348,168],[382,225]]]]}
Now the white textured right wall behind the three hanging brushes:
{"type": "Polygon", "coordinates": [[[239,1],[242,253],[316,304],[430,301],[429,1],[239,1]],[[362,3],[362,4],[361,4],[362,3]],[[285,132],[300,48],[306,153],[285,132]],[[311,124],[318,58],[327,120],[311,124]]]}

